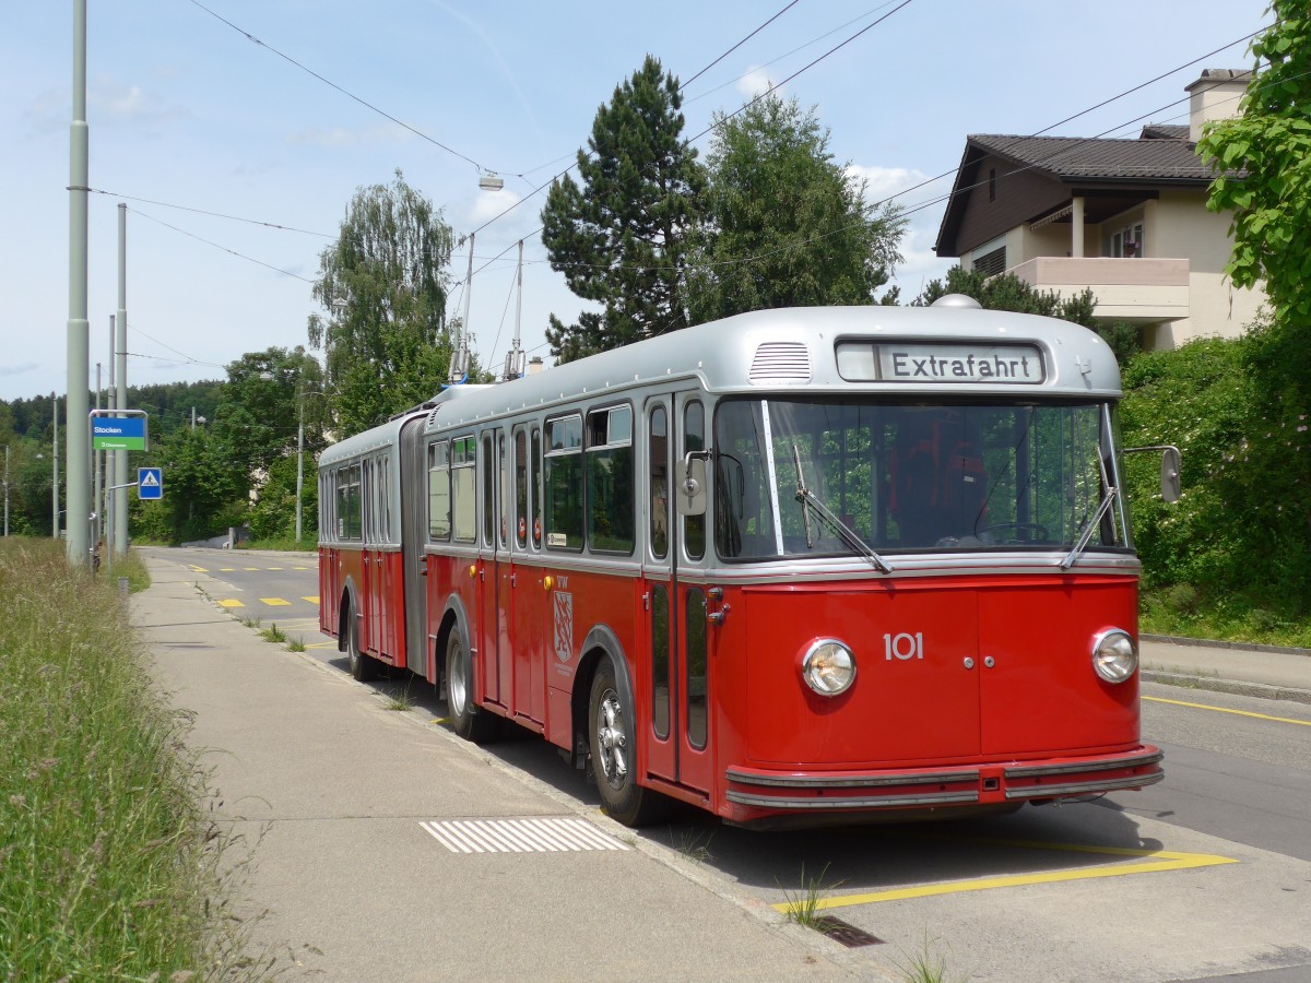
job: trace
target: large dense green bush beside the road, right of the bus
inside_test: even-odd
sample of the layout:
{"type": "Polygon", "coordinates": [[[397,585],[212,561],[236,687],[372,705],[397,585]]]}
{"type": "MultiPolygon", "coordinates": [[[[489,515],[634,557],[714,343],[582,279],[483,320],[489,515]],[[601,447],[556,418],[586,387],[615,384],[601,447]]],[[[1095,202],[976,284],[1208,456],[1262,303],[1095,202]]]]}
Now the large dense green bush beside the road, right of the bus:
{"type": "Polygon", "coordinates": [[[1155,463],[1127,464],[1150,630],[1201,619],[1209,633],[1289,640],[1311,615],[1311,430],[1294,393],[1272,397],[1272,343],[1259,324],[1124,368],[1125,444],[1183,452],[1173,505],[1155,463]]]}

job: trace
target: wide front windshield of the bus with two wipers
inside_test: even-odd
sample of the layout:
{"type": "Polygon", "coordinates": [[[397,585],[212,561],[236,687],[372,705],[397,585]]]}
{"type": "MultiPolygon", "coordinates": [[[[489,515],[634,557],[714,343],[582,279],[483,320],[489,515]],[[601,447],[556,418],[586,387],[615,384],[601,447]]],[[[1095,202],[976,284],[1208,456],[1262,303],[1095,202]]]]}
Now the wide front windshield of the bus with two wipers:
{"type": "Polygon", "coordinates": [[[1124,503],[1108,502],[1112,426],[1105,402],[724,401],[716,547],[725,560],[1127,548],[1124,503]]]}

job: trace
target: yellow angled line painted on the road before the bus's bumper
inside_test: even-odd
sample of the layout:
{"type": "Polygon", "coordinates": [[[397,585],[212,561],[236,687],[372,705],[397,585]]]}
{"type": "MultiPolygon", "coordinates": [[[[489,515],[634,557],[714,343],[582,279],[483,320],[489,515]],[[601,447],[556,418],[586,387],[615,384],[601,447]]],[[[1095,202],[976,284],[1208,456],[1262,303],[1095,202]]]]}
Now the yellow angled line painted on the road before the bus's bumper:
{"type": "MultiPolygon", "coordinates": [[[[996,847],[1020,847],[1024,849],[1047,849],[1071,853],[1100,853],[1110,857],[1143,857],[1142,864],[1120,864],[1116,866],[1093,868],[1084,870],[1047,870],[1037,874],[1015,874],[1009,877],[981,877],[973,881],[948,881],[945,883],[919,885],[915,887],[899,887],[890,891],[872,891],[869,894],[847,894],[836,898],[821,898],[817,910],[850,908],[856,904],[877,904],[889,900],[906,900],[910,898],[933,898],[943,894],[964,894],[966,891],[988,891],[995,887],[1021,887],[1034,883],[1059,883],[1063,881],[1091,881],[1099,877],[1126,877],[1129,874],[1148,874],[1162,870],[1190,870],[1193,868],[1217,866],[1221,864],[1238,864],[1232,857],[1221,857],[1210,853],[1173,853],[1163,849],[1130,849],[1127,847],[1088,847],[1074,843],[1030,843],[1028,840],[996,840],[987,838],[933,838],[943,841],[982,843],[996,847]]],[[[781,902],[773,904],[775,911],[787,914],[805,906],[806,900],[781,902]]]]}

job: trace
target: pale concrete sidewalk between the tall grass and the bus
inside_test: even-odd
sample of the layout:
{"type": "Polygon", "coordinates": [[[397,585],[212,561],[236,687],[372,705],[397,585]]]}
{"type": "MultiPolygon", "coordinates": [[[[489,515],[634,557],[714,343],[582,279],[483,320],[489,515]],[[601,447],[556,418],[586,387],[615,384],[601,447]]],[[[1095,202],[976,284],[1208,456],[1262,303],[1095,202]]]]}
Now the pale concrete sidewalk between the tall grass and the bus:
{"type": "Polygon", "coordinates": [[[894,979],[872,950],[787,924],[426,714],[389,712],[374,688],[260,641],[201,594],[207,575],[147,564],[153,585],[132,599],[132,623],[160,688],[195,714],[212,814],[250,861],[240,910],[252,954],[281,974],[894,979]],[[446,845],[509,836],[507,820],[557,848],[446,845]]]}

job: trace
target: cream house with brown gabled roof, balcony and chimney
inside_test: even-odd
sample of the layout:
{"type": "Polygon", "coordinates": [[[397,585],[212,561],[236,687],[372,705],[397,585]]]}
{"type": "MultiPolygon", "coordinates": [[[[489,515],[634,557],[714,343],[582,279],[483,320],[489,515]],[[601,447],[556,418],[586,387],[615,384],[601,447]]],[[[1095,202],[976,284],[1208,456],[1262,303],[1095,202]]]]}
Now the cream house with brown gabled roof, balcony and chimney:
{"type": "Polygon", "coordinates": [[[1138,325],[1148,349],[1240,334],[1265,295],[1224,275],[1231,215],[1206,210],[1214,173],[1197,139],[1238,111],[1251,75],[1205,69],[1189,125],[1137,139],[966,138],[935,250],[1063,296],[1091,288],[1096,316],[1138,325]]]}

